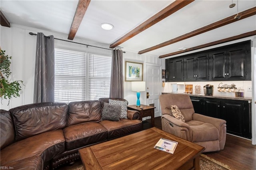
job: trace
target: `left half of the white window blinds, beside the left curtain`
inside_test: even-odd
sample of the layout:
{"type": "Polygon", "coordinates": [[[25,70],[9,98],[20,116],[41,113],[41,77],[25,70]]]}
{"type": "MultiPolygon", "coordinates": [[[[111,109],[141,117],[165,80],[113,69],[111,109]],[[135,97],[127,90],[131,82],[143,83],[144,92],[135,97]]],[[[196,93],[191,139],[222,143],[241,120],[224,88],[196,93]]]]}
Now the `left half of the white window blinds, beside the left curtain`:
{"type": "Polygon", "coordinates": [[[55,49],[55,102],[85,100],[85,75],[86,53],[55,49]]]}

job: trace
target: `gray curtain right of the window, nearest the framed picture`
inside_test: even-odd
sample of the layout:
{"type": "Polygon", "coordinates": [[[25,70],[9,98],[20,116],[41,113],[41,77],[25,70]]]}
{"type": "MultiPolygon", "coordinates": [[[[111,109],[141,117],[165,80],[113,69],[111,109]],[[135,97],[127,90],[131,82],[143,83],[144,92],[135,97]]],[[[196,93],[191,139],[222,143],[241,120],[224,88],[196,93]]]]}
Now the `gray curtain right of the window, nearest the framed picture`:
{"type": "Polygon", "coordinates": [[[124,98],[123,51],[112,50],[112,71],[110,81],[111,98],[124,98]]]}

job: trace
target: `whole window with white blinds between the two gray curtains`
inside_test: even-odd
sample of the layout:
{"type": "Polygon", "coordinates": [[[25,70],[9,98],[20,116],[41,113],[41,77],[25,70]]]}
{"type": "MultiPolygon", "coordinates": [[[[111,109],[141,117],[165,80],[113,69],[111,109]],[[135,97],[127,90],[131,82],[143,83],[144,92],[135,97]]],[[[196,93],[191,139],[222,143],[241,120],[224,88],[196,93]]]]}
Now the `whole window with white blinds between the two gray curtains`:
{"type": "Polygon", "coordinates": [[[55,49],[55,102],[109,97],[112,58],[55,49]]]}

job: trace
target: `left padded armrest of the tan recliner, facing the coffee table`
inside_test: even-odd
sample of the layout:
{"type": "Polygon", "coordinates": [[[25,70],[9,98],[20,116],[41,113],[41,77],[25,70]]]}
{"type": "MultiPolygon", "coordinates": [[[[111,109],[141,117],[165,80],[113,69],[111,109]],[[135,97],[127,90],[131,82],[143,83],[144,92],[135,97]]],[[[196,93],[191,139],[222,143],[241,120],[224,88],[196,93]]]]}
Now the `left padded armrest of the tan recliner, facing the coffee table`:
{"type": "Polygon", "coordinates": [[[167,114],[162,115],[161,122],[162,122],[162,130],[170,134],[174,134],[185,140],[188,140],[188,141],[192,140],[192,130],[187,123],[182,122],[167,114]]]}

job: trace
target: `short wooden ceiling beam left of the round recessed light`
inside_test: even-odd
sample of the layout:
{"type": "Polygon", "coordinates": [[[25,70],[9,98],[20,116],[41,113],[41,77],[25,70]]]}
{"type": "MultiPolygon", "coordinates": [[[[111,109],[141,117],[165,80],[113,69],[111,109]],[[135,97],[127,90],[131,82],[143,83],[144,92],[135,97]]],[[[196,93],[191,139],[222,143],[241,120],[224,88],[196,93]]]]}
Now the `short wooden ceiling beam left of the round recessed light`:
{"type": "Polygon", "coordinates": [[[73,40],[76,36],[76,32],[84,18],[84,14],[90,4],[90,1],[91,0],[79,0],[76,7],[76,13],[73,18],[73,22],[69,30],[68,40],[73,40]]]}

